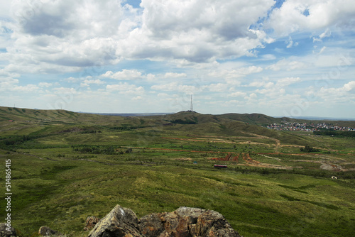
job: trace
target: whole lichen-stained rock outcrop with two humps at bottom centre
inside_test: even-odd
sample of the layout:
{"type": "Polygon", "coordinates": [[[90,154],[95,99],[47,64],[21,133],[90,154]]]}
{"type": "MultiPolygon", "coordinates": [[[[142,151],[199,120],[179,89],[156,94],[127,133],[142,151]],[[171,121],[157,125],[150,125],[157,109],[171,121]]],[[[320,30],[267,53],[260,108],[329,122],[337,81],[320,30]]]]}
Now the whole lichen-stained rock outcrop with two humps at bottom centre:
{"type": "Polygon", "coordinates": [[[136,218],[131,209],[115,206],[89,237],[241,237],[217,211],[182,206],[173,212],[136,218]]]}

